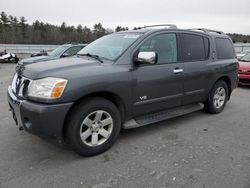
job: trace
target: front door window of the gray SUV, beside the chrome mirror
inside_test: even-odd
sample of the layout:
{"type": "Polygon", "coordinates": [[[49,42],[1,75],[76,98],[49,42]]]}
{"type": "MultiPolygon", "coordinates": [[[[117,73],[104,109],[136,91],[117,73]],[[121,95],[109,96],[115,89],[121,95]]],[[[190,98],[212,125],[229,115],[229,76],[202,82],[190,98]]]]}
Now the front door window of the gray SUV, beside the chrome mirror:
{"type": "Polygon", "coordinates": [[[140,52],[156,52],[157,64],[177,62],[177,42],[175,34],[160,34],[147,40],[140,52]]]}

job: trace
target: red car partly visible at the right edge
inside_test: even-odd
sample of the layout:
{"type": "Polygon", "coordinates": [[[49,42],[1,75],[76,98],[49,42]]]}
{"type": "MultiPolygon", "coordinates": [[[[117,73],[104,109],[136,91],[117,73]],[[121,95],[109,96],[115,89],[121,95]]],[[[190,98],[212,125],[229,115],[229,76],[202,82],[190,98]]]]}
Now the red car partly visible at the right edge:
{"type": "Polygon", "coordinates": [[[239,60],[239,85],[250,86],[250,52],[239,60]]]}

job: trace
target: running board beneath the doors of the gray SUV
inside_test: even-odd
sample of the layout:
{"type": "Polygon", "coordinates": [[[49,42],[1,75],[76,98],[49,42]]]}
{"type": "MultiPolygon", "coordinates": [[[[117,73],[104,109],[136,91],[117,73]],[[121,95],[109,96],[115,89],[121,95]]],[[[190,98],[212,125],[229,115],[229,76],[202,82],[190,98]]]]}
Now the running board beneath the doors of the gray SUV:
{"type": "Polygon", "coordinates": [[[176,107],[176,108],[169,109],[169,110],[164,110],[164,111],[156,112],[153,114],[139,116],[124,123],[123,128],[124,129],[137,128],[137,127],[141,127],[144,125],[163,121],[166,119],[189,114],[189,113],[201,110],[203,108],[204,108],[204,104],[197,103],[197,104],[190,104],[186,106],[176,107]]]}

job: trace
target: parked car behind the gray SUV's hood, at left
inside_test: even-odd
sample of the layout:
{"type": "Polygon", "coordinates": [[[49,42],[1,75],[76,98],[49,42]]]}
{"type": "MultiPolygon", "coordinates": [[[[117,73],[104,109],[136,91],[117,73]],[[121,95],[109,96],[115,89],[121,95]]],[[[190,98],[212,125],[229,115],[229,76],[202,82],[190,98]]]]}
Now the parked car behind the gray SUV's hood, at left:
{"type": "Polygon", "coordinates": [[[27,65],[27,64],[37,63],[37,62],[42,62],[42,61],[55,60],[55,59],[60,59],[60,58],[70,57],[70,56],[76,55],[77,52],[79,52],[85,46],[87,46],[87,44],[72,43],[72,44],[61,45],[61,46],[57,47],[56,49],[54,49],[53,51],[48,52],[46,55],[22,59],[21,61],[18,62],[17,69],[21,65],[27,65]]]}

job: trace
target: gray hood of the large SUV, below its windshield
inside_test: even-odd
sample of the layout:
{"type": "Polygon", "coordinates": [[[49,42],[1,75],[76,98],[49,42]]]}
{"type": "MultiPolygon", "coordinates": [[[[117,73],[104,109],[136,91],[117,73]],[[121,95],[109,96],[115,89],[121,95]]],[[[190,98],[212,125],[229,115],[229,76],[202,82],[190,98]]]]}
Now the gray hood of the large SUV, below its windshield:
{"type": "Polygon", "coordinates": [[[91,74],[104,64],[109,63],[99,63],[97,60],[87,57],[69,57],[21,66],[17,72],[30,79],[49,76],[70,78],[76,74],[91,74]]]}

